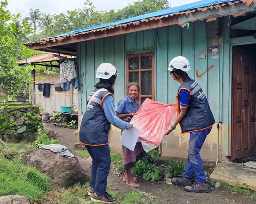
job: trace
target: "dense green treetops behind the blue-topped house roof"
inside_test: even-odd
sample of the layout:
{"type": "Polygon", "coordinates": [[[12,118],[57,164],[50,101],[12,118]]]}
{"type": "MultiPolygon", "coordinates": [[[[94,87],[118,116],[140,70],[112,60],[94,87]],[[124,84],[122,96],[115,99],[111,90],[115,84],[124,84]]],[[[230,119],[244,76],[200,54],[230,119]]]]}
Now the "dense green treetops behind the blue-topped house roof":
{"type": "Polygon", "coordinates": [[[166,8],[170,8],[168,0],[139,0],[133,4],[128,4],[125,8],[118,9],[118,11],[114,9],[96,11],[93,3],[87,0],[84,2],[83,8],[67,11],[67,15],[63,13],[53,15],[48,34],[49,36],[56,36],[65,32],[127,19],[166,8]]]}

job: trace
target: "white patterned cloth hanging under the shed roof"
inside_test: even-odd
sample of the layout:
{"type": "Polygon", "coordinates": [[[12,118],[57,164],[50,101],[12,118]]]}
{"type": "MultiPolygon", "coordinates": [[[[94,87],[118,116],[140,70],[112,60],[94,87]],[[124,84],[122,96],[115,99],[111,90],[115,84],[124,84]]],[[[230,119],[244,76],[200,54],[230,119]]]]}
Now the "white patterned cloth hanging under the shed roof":
{"type": "Polygon", "coordinates": [[[75,63],[73,61],[68,61],[60,64],[60,81],[69,82],[77,76],[75,63]]]}

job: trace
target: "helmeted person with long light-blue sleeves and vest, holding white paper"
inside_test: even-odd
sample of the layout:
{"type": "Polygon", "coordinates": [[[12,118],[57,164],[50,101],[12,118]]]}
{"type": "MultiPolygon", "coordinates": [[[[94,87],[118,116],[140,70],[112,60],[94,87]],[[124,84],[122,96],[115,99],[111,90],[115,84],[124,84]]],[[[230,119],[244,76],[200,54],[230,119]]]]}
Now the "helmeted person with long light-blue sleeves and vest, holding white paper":
{"type": "Polygon", "coordinates": [[[110,149],[108,132],[110,124],[121,130],[132,128],[131,123],[117,118],[114,111],[114,83],[117,77],[116,68],[110,63],[102,63],[96,71],[99,82],[87,99],[87,109],[79,131],[80,143],[86,146],[91,163],[90,187],[88,195],[94,202],[113,203],[116,198],[106,192],[107,177],[110,170],[110,149]],[[100,89],[100,90],[99,90],[100,89]],[[99,92],[97,92],[99,91],[99,92]],[[95,94],[95,92],[97,92],[95,94]],[[91,99],[92,98],[92,99],[91,99]],[[90,101],[90,104],[88,104],[90,101]]]}

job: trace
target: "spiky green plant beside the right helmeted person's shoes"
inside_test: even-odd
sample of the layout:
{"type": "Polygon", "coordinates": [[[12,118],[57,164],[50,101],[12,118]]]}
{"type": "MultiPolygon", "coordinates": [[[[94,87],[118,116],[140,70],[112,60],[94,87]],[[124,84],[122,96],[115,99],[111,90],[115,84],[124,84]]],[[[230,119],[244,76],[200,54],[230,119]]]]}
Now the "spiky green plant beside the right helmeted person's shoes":
{"type": "Polygon", "coordinates": [[[178,159],[176,162],[167,161],[165,164],[161,165],[165,175],[171,174],[172,177],[181,176],[186,170],[186,163],[178,159]]]}

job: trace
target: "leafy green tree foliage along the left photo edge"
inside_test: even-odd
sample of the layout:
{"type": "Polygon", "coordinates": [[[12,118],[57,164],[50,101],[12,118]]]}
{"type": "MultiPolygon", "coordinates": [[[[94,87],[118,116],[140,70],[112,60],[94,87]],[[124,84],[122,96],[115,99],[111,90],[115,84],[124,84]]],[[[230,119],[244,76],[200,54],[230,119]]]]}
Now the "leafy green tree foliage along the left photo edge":
{"type": "Polygon", "coordinates": [[[23,20],[19,27],[15,23],[18,15],[12,15],[6,11],[7,0],[1,1],[0,5],[0,86],[7,88],[8,93],[15,94],[21,85],[27,81],[29,70],[23,70],[15,66],[15,61],[30,57],[32,50],[22,45],[20,41],[25,40],[31,34],[29,23],[23,20]],[[11,22],[11,23],[8,23],[11,22]]]}

